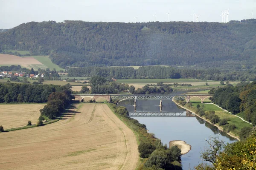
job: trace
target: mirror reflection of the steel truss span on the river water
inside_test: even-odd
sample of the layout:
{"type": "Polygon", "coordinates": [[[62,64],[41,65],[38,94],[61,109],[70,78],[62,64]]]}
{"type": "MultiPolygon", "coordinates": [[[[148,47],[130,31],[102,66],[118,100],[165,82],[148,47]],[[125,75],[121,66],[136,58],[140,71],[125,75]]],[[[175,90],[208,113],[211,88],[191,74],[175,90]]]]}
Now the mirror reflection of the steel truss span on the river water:
{"type": "Polygon", "coordinates": [[[128,116],[187,116],[186,112],[129,112],[128,116]]]}

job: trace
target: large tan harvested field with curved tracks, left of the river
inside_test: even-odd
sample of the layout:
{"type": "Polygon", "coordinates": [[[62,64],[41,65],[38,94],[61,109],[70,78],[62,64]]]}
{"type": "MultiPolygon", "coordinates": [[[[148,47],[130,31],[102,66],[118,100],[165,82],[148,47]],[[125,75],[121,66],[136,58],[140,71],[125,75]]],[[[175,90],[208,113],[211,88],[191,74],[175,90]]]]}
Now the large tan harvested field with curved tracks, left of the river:
{"type": "Polygon", "coordinates": [[[8,170],[134,170],[134,133],[105,104],[73,105],[53,124],[0,133],[0,167],[8,170]]]}

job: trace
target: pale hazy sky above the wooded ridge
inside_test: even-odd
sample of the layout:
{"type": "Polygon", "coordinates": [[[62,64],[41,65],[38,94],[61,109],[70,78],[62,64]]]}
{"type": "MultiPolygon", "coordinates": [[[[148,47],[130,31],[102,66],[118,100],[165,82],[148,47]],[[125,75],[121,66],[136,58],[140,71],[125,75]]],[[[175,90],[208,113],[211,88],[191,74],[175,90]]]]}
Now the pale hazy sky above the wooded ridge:
{"type": "Polygon", "coordinates": [[[256,0],[0,0],[0,28],[8,29],[31,21],[63,22],[221,22],[221,11],[229,8],[229,20],[256,18],[256,0]]]}

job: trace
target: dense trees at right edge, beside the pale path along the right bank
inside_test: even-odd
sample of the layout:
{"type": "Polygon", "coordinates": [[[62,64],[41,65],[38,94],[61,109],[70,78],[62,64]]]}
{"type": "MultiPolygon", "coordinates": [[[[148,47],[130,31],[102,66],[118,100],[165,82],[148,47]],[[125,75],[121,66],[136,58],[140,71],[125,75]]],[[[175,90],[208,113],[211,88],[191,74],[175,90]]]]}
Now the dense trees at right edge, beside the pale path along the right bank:
{"type": "Polygon", "coordinates": [[[213,94],[211,100],[215,104],[234,114],[242,113],[247,121],[256,125],[256,81],[212,88],[209,94],[213,94]]]}

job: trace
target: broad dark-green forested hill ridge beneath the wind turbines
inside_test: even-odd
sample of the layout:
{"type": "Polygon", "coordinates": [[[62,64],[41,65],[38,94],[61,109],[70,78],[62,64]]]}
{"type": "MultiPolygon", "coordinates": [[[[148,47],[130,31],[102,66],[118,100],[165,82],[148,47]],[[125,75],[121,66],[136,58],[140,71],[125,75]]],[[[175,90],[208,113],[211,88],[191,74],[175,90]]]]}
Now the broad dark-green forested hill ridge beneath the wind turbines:
{"type": "Polygon", "coordinates": [[[254,65],[256,20],[228,24],[30,22],[0,33],[0,48],[50,55],[62,67],[254,65]]]}

